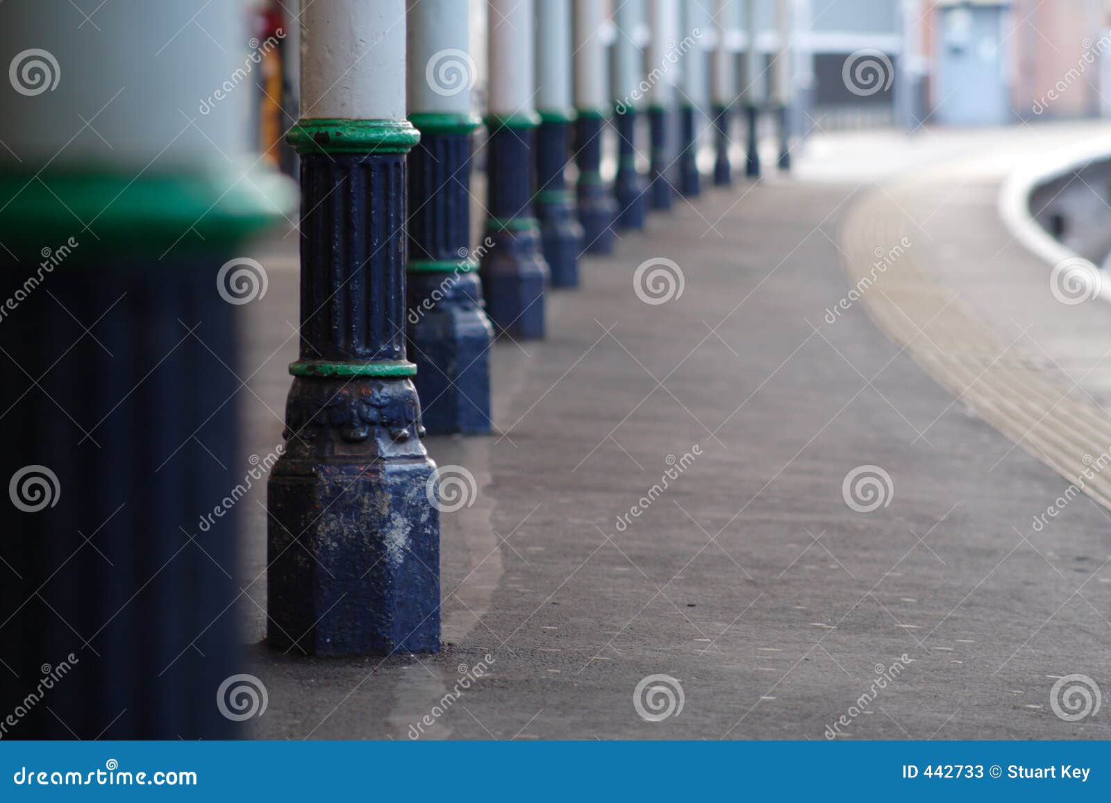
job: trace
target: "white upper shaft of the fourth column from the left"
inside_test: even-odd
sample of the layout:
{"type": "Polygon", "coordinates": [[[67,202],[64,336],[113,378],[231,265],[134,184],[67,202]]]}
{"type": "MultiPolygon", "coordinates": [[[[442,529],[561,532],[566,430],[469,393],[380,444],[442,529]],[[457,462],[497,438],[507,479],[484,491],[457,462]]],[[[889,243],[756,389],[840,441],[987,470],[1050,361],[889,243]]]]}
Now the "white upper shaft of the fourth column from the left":
{"type": "Polygon", "coordinates": [[[487,4],[489,111],[498,117],[531,116],[536,111],[533,0],[489,0],[487,4]]]}

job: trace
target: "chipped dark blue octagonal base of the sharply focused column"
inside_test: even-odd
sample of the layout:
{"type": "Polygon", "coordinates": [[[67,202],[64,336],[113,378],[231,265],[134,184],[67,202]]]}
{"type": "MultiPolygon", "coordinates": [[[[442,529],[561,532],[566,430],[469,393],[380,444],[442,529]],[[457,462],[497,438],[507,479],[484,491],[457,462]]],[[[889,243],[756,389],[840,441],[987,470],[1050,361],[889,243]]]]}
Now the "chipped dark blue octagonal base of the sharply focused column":
{"type": "Polygon", "coordinates": [[[294,379],[287,452],[267,488],[272,648],[440,650],[436,465],[421,434],[408,380],[294,379]]]}

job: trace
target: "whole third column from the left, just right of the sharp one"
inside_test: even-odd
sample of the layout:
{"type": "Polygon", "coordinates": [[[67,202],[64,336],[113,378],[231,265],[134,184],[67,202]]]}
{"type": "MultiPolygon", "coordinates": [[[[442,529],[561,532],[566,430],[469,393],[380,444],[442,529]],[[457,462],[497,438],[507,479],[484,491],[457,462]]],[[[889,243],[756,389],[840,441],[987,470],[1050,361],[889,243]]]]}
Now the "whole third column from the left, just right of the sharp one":
{"type": "Polygon", "coordinates": [[[409,355],[430,434],[486,433],[490,343],[479,260],[471,253],[471,112],[477,78],[467,3],[421,0],[409,8],[409,355]]]}

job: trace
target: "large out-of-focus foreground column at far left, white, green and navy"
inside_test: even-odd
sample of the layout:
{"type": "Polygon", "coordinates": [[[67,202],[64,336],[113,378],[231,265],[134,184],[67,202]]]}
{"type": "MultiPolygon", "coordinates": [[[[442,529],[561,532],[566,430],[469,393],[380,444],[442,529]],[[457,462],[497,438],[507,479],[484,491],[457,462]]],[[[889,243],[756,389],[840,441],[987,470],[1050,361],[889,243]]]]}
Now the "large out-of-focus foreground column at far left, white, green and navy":
{"type": "Polygon", "coordinates": [[[71,11],[0,9],[4,735],[227,737],[244,240],[294,201],[250,153],[280,33],[230,0],[71,11]]]}

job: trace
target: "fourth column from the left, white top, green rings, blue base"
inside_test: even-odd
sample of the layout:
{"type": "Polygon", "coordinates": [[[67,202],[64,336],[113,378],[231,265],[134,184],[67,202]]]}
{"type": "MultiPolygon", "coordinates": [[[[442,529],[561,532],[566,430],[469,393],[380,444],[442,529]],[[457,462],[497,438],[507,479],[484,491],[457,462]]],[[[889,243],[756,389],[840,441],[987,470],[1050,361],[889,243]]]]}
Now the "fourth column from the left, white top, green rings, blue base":
{"type": "Polygon", "coordinates": [[[533,214],[532,153],[540,117],[534,110],[533,0],[491,0],[487,12],[490,133],[482,289],[497,333],[544,337],[540,222],[533,214]]]}

